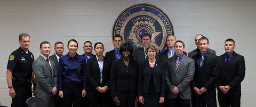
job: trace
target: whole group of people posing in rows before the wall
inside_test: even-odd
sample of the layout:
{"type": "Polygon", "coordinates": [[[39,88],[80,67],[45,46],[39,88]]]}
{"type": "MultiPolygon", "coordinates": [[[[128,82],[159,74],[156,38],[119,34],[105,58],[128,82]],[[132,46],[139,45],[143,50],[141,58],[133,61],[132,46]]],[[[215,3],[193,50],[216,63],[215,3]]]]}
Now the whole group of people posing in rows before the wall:
{"type": "Polygon", "coordinates": [[[187,53],[185,43],[175,36],[166,37],[167,50],[160,53],[148,33],[142,35],[143,47],[133,51],[122,36],[113,37],[114,50],[103,56],[104,45],[90,41],[78,55],[78,43],[68,41],[63,54],[62,42],[40,44],[35,60],[28,50],[30,36],[19,35],[20,48],[11,53],[7,64],[7,84],[12,107],[26,106],[32,96],[41,97],[49,106],[240,106],[241,82],[245,61],[234,52],[235,41],[225,41],[226,53],[215,55],[209,39],[195,37],[196,50],[187,53]],[[95,55],[92,54],[94,48],[95,55]],[[31,85],[33,84],[33,91],[31,85]],[[191,105],[190,105],[191,104],[191,105]]]}

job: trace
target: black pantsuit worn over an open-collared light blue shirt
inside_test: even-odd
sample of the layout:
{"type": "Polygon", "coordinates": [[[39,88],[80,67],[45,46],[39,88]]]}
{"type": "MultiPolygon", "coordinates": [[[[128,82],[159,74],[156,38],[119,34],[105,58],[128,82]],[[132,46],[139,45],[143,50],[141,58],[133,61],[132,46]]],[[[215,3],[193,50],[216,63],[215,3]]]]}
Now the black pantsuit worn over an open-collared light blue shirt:
{"type": "Polygon", "coordinates": [[[105,93],[100,93],[98,92],[97,87],[107,86],[110,88],[110,68],[111,61],[103,56],[102,81],[100,81],[101,73],[97,57],[92,57],[91,59],[87,60],[85,72],[87,79],[87,95],[90,107],[109,106],[111,99],[110,90],[108,89],[105,93]]]}

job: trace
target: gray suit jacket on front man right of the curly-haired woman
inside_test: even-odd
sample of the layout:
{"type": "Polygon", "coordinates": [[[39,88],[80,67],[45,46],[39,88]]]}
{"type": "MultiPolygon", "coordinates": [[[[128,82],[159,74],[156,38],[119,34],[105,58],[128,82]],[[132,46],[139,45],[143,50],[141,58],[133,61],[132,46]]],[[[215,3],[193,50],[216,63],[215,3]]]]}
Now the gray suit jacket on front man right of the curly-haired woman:
{"type": "Polygon", "coordinates": [[[175,68],[175,57],[167,59],[165,62],[165,84],[167,88],[167,98],[176,98],[178,94],[172,93],[173,86],[180,90],[182,99],[191,99],[190,83],[195,73],[195,61],[183,55],[179,67],[175,68]]]}

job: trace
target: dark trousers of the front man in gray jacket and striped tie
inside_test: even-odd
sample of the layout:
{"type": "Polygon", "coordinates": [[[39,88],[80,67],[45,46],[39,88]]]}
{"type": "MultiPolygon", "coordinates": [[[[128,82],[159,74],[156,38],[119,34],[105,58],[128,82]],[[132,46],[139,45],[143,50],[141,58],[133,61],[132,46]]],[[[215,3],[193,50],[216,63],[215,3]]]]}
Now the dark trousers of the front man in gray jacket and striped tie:
{"type": "Polygon", "coordinates": [[[167,106],[165,105],[166,107],[190,107],[190,100],[182,99],[180,97],[180,93],[176,98],[168,98],[166,101],[167,101],[167,106]]]}

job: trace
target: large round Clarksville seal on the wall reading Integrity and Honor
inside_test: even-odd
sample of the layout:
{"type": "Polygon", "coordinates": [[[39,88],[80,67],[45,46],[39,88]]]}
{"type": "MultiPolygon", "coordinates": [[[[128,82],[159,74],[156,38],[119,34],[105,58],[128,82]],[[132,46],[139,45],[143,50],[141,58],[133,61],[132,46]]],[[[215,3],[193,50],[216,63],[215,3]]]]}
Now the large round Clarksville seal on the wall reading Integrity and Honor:
{"type": "Polygon", "coordinates": [[[121,35],[133,50],[142,47],[142,35],[149,33],[153,43],[164,51],[166,37],[174,35],[173,26],[159,7],[151,4],[135,4],[123,10],[115,20],[112,36],[121,35]]]}

